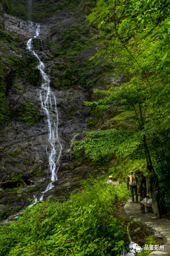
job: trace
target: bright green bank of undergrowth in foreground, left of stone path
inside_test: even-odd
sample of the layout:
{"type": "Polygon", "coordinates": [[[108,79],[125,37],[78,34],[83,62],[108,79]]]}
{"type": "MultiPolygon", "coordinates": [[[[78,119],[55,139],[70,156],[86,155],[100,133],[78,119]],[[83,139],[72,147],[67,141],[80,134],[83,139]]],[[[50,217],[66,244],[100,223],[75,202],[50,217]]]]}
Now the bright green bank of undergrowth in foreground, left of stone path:
{"type": "Polygon", "coordinates": [[[119,255],[128,241],[114,206],[129,197],[126,185],[90,178],[81,186],[83,192],[64,203],[37,203],[17,222],[0,226],[0,255],[119,255]]]}

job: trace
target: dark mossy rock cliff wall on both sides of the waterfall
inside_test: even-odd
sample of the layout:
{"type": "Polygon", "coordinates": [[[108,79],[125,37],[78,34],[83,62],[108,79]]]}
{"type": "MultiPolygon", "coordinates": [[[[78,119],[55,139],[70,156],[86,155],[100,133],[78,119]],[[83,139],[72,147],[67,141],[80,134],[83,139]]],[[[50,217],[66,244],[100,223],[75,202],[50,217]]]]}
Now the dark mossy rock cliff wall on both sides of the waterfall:
{"type": "MultiPolygon", "coordinates": [[[[16,207],[30,204],[27,198],[40,195],[50,182],[48,126],[41,106],[41,76],[37,59],[26,48],[36,24],[27,21],[28,2],[1,1],[1,161],[0,204],[16,207]],[[14,182],[16,180],[16,182],[14,182]]],[[[106,174],[108,164],[96,167],[84,156],[75,158],[73,140],[83,131],[101,129],[114,110],[92,112],[85,100],[95,99],[93,88],[120,84],[114,66],[89,61],[106,42],[85,16],[93,3],[32,2],[32,21],[40,22],[40,36],[33,39],[34,51],[46,65],[50,87],[59,112],[62,155],[58,180],[45,198],[68,196],[89,174],[106,174]]],[[[52,103],[53,104],[53,103],[52,103]]],[[[56,152],[59,149],[56,147],[56,152]]],[[[110,159],[111,164],[114,160],[110,159]]]]}

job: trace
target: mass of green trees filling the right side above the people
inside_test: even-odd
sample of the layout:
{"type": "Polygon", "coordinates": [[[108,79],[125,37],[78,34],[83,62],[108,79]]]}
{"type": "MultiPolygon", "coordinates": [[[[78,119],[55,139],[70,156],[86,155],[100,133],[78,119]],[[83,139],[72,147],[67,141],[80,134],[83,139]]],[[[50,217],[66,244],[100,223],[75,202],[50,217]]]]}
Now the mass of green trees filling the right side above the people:
{"type": "Polygon", "coordinates": [[[101,38],[107,40],[91,59],[104,54],[104,60],[115,66],[114,75],[122,76],[124,83],[96,89],[101,100],[85,102],[90,111],[112,108],[115,116],[108,120],[109,129],[86,132],[88,138],[75,142],[74,152],[83,149],[97,164],[111,156],[119,158],[119,163],[136,161],[135,168],[141,170],[152,164],[160,180],[163,213],[168,215],[169,2],[99,1],[87,19],[98,25],[101,38]]]}

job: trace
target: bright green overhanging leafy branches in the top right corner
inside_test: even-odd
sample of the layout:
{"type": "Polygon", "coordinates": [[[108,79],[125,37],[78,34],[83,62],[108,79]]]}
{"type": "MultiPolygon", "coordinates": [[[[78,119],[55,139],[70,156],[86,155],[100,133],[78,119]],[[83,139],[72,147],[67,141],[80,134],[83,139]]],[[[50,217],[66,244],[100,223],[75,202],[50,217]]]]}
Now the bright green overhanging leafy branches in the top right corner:
{"type": "MultiPolygon", "coordinates": [[[[152,1],[137,2],[119,0],[112,2],[99,1],[97,7],[93,8],[93,12],[88,15],[90,22],[98,23],[98,28],[102,28],[101,36],[109,38],[109,46],[105,50],[101,50],[97,56],[107,51],[105,60],[113,58],[112,52],[118,52],[119,49],[133,53],[141,51],[138,46],[145,42],[151,43],[154,40],[160,45],[164,45],[161,49],[161,59],[164,61],[169,54],[168,34],[169,34],[169,5],[168,1],[152,1]],[[111,13],[110,13],[110,10],[111,13]],[[152,15],[150,15],[152,13],[152,15]],[[142,42],[143,40],[143,42],[142,42]],[[149,41],[150,40],[150,41],[149,41]],[[129,47],[130,46],[130,47],[129,47]],[[131,49],[134,51],[132,52],[131,49]]],[[[132,56],[132,55],[131,55],[132,56]]],[[[144,71],[144,69],[143,69],[144,71]]]]}

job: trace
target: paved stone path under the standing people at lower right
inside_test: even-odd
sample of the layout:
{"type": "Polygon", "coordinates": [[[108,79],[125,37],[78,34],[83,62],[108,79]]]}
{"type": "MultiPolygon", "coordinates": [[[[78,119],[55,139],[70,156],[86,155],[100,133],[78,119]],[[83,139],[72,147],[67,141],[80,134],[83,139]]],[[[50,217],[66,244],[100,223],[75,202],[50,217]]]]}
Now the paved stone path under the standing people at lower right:
{"type": "MultiPolygon", "coordinates": [[[[154,233],[155,236],[161,236],[166,239],[164,250],[154,250],[149,256],[170,256],[170,221],[165,218],[152,219],[154,213],[141,213],[139,203],[130,203],[131,198],[127,200],[124,206],[124,212],[130,221],[137,220],[137,223],[143,225],[147,231],[154,233]]],[[[135,242],[135,241],[134,241],[135,242]]]]}

